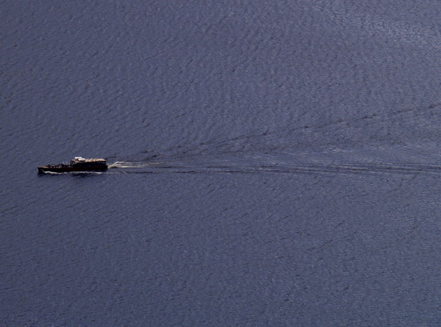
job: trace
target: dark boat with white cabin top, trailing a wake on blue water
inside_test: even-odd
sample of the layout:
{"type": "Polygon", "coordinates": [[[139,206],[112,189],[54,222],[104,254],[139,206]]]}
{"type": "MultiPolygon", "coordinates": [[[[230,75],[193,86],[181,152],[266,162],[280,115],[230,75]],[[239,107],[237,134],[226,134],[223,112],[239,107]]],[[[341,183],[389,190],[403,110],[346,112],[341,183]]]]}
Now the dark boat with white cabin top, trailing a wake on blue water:
{"type": "Polygon", "coordinates": [[[88,172],[107,170],[107,161],[101,158],[85,159],[83,157],[74,157],[70,164],[50,164],[37,167],[39,174],[45,172],[88,172]]]}

